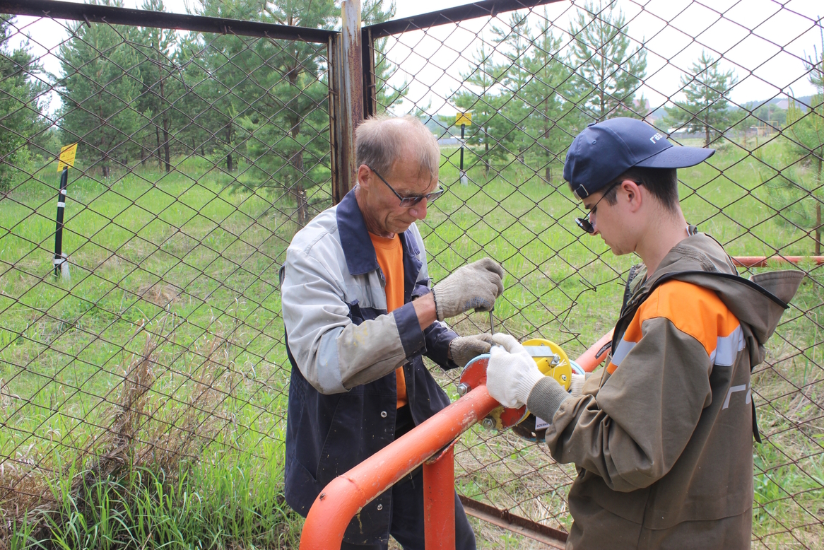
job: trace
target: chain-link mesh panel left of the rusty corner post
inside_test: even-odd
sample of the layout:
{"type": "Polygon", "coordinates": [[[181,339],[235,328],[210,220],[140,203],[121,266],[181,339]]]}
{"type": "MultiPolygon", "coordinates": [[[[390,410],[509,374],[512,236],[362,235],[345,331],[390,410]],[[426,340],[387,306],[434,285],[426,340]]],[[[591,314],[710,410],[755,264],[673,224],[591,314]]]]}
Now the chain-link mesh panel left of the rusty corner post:
{"type": "Polygon", "coordinates": [[[268,475],[288,383],[277,273],[331,204],[327,43],[0,24],[3,528],[72,472],[236,451],[268,475]]]}

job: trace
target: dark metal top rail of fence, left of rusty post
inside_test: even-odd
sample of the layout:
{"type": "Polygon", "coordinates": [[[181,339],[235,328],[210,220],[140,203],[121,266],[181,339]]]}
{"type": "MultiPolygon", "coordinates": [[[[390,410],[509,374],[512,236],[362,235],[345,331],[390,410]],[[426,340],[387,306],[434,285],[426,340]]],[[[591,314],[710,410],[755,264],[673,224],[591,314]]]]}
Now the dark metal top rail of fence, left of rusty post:
{"type": "Polygon", "coordinates": [[[19,16],[52,17],[129,25],[176,29],[178,31],[211,32],[220,35],[256,36],[279,40],[300,40],[325,44],[337,31],[311,29],[302,26],[275,25],[257,21],[239,21],[222,17],[193,16],[181,13],[151,12],[127,7],[97,6],[57,0],[0,0],[0,12],[19,16]]]}

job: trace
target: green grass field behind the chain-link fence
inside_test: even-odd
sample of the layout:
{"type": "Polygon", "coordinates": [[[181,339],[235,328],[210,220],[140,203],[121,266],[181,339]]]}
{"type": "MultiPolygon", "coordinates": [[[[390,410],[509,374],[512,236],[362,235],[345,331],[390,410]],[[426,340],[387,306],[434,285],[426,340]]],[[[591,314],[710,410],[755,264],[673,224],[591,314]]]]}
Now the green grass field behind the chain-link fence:
{"type": "MultiPolygon", "coordinates": [[[[442,152],[449,192],[419,223],[430,275],[482,256],[501,261],[498,330],[548,338],[574,358],[615,322],[638,259],[582,235],[559,165],[551,184],[516,161],[486,176],[467,152],[464,186],[456,149],[442,152]]],[[[761,160],[725,144],[679,172],[686,218],[733,255],[811,254],[808,233],[777,214],[787,196],[762,185],[764,164],[787,158],[778,141],[761,147],[761,160]]],[[[227,174],[206,159],[109,181],[72,171],[64,281],[51,275],[53,169],[0,200],[0,507],[31,510],[13,515],[12,548],[35,548],[44,533],[49,548],[291,548],[301,522],[281,496],[288,361],[277,281],[297,228],[293,201],[240,192],[246,167],[227,174]],[[129,391],[141,386],[132,373],[145,356],[147,389],[133,403],[129,391]],[[129,468],[80,482],[117,448],[112,434],[131,438],[129,468]],[[45,511],[34,511],[38,502],[45,511]]],[[[329,189],[311,191],[316,209],[330,203],[329,189]]],[[[812,529],[824,514],[824,279],[822,268],[802,268],[809,277],[754,378],[770,436],[756,449],[754,536],[770,548],[793,536],[821,543],[812,529]]],[[[489,330],[488,318],[453,321],[469,334],[489,330]]],[[[453,398],[456,374],[438,374],[453,398]]],[[[555,465],[545,446],[475,427],[458,451],[463,494],[569,527],[574,469],[555,465]]],[[[482,548],[513,547],[490,537],[482,548]]]]}

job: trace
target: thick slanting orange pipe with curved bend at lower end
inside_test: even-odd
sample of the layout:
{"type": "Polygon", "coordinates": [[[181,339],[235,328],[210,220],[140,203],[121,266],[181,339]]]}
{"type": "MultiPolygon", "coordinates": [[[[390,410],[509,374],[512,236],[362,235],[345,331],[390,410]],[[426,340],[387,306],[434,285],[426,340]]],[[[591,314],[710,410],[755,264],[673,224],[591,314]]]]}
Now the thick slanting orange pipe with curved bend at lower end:
{"type": "MultiPolygon", "coordinates": [[[[364,505],[452,443],[498,405],[489,397],[486,386],[479,386],[349,472],[335,477],[309,510],[303,524],[300,550],[340,548],[346,526],[364,505]]],[[[451,489],[455,490],[454,484],[451,489]]],[[[454,502],[454,496],[449,502],[454,502]]],[[[454,526],[453,517],[453,529],[454,526]]]]}

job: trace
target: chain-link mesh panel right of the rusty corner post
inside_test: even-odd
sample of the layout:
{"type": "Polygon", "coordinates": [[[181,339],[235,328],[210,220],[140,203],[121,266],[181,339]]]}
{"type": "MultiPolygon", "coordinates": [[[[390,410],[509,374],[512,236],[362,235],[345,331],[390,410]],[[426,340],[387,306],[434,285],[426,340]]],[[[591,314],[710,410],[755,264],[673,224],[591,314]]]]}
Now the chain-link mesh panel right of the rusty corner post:
{"type": "MultiPolygon", "coordinates": [[[[753,378],[765,432],[753,546],[817,548],[824,280],[810,256],[821,252],[821,21],[789,4],[722,4],[557,2],[410,30],[380,39],[400,68],[386,83],[400,94],[396,109],[442,137],[450,193],[421,223],[436,279],[480,256],[502,261],[496,330],[550,339],[573,358],[615,322],[637,259],[613,256],[574,223],[583,214],[562,178],[569,143],[589,123],[624,115],[676,143],[717,149],[679,171],[688,221],[733,256],[807,256],[808,277],[753,378]],[[812,93],[794,96],[804,81],[812,93]],[[743,89],[760,101],[733,101],[743,89]],[[444,111],[470,111],[471,124],[460,129],[444,111]]],[[[763,269],[747,266],[742,275],[763,269]]],[[[456,330],[487,331],[489,322],[471,315],[456,330]]],[[[576,472],[545,446],[476,427],[456,463],[465,496],[569,527],[576,472]]]]}

